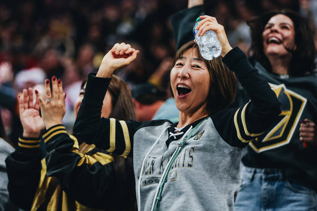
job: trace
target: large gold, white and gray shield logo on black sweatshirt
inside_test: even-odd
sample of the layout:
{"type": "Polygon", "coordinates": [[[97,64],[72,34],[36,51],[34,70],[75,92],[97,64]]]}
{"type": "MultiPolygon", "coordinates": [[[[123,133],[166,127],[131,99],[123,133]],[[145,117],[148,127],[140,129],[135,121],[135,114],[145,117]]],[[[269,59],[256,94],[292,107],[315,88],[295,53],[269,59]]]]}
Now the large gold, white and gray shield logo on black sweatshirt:
{"type": "Polygon", "coordinates": [[[268,130],[249,143],[257,153],[289,143],[307,102],[305,97],[286,89],[284,84],[270,86],[281,102],[282,113],[268,130]]]}

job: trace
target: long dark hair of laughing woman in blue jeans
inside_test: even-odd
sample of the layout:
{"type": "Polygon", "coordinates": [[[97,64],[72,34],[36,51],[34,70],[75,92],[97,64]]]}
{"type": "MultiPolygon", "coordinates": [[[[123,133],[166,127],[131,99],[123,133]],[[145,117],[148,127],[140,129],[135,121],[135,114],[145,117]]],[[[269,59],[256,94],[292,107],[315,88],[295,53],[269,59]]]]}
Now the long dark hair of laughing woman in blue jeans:
{"type": "Polygon", "coordinates": [[[281,11],[270,11],[261,16],[252,18],[247,21],[251,29],[251,47],[249,53],[253,53],[252,57],[256,59],[269,72],[272,71],[271,64],[263,52],[262,33],[264,27],[271,17],[282,14],[288,16],[294,23],[296,50],[288,49],[292,53],[292,59],[289,65],[289,73],[292,76],[303,76],[313,73],[316,67],[314,62],[316,57],[313,31],[309,27],[307,21],[298,13],[283,9],[281,11]]]}

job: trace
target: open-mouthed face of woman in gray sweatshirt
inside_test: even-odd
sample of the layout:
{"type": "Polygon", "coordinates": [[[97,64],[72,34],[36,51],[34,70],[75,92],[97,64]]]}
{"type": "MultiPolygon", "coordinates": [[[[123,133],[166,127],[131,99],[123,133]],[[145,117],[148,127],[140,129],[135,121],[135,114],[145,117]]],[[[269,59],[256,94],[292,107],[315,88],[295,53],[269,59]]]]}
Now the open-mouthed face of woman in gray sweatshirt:
{"type": "Polygon", "coordinates": [[[209,87],[207,65],[198,58],[196,48],[188,49],[171,70],[171,88],[178,110],[184,114],[206,110],[209,87]]]}

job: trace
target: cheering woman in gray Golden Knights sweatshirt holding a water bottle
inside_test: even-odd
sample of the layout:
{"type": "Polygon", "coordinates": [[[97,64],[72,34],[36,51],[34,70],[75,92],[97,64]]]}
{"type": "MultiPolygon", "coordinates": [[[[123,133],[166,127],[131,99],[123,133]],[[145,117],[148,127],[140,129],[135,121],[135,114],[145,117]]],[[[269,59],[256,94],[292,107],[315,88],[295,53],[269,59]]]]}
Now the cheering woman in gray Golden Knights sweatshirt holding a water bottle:
{"type": "Polygon", "coordinates": [[[88,75],[74,133],[88,144],[133,157],[139,210],[233,210],[243,148],[281,113],[275,93],[245,54],[230,47],[223,26],[215,18],[205,22],[198,27],[216,32],[223,59],[205,60],[194,41],[176,53],[171,70],[179,110],[175,124],[100,118],[113,71],[139,53],[130,45],[114,45],[98,73],[88,75]],[[251,101],[225,109],[235,98],[236,77],[251,101]]]}

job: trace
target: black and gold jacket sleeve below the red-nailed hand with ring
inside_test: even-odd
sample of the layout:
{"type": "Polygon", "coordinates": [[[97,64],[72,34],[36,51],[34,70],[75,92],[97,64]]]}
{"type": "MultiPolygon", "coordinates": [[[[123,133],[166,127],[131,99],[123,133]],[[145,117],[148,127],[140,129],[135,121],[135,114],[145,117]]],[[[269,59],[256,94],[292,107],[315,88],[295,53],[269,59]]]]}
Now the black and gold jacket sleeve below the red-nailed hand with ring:
{"type": "MultiPolygon", "coordinates": [[[[79,152],[77,139],[67,134],[63,125],[49,128],[43,138],[48,151],[47,175],[57,177],[61,189],[82,205],[104,209],[118,197],[114,194],[118,187],[125,187],[126,190],[120,190],[125,193],[135,190],[132,169],[125,175],[131,178],[127,180],[132,184],[119,186],[117,183],[125,182],[117,179],[113,156],[94,145],[84,153],[79,152]]],[[[118,204],[116,206],[120,207],[118,204]]]]}

